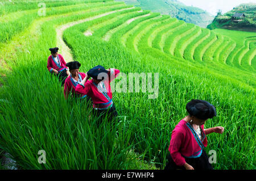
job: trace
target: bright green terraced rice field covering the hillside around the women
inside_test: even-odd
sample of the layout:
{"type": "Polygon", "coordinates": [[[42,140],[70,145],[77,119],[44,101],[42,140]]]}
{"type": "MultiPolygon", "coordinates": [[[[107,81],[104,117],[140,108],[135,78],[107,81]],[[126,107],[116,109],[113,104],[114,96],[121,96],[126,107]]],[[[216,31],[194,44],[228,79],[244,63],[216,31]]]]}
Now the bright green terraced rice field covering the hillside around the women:
{"type": "Polygon", "coordinates": [[[256,31],[209,30],[123,1],[1,0],[0,55],[0,158],[16,169],[162,170],[192,99],[216,108],[205,129],[225,128],[207,135],[213,169],[256,169],[256,31]],[[54,47],[82,73],[120,71],[115,124],[65,99],[47,69],[54,47]]]}

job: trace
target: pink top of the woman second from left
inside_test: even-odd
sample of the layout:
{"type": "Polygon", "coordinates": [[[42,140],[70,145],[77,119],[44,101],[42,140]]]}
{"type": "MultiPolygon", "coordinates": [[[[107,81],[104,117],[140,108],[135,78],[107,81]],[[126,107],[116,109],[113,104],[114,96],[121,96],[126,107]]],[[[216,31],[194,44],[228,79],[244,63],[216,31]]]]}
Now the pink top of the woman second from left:
{"type": "MultiPolygon", "coordinates": [[[[85,73],[80,72],[79,73],[79,81],[81,82],[82,79],[85,78],[85,73]]],[[[72,92],[72,94],[79,95],[80,97],[85,96],[84,94],[79,94],[79,92],[76,92],[76,86],[78,85],[78,82],[76,82],[72,78],[72,74],[70,74],[66,79],[65,79],[65,84],[64,84],[64,96],[65,99],[68,98],[69,92],[72,92]]]]}

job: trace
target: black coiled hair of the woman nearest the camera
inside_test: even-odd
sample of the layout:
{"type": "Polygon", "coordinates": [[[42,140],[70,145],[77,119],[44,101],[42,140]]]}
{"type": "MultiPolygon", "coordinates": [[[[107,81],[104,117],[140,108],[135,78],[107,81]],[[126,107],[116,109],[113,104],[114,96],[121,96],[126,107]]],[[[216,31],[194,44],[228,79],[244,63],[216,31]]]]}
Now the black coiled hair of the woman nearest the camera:
{"type": "Polygon", "coordinates": [[[187,103],[186,110],[190,116],[207,120],[217,115],[216,108],[205,100],[192,99],[187,103]]]}

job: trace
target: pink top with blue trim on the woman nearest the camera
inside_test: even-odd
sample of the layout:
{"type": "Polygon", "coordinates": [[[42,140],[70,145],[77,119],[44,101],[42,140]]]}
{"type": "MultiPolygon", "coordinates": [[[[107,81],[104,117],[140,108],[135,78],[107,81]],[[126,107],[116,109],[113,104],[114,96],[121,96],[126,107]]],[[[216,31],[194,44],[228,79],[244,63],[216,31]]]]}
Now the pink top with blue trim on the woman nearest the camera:
{"type": "Polygon", "coordinates": [[[192,125],[181,120],[172,131],[169,151],[177,166],[185,164],[185,158],[198,158],[207,146],[204,125],[200,126],[202,140],[200,140],[192,125]]]}

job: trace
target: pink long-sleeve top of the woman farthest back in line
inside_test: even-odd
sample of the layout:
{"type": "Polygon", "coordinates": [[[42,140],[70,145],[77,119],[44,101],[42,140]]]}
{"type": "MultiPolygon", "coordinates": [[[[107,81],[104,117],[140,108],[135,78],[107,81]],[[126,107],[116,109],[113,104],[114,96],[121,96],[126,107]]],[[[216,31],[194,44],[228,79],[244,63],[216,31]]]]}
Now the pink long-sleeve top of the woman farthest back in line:
{"type": "Polygon", "coordinates": [[[57,58],[59,58],[59,62],[60,62],[59,64],[54,60],[52,55],[50,55],[48,57],[47,69],[49,70],[49,72],[52,73],[52,69],[56,69],[58,72],[63,71],[63,70],[68,70],[63,56],[61,56],[61,54],[58,54],[57,58]]]}

